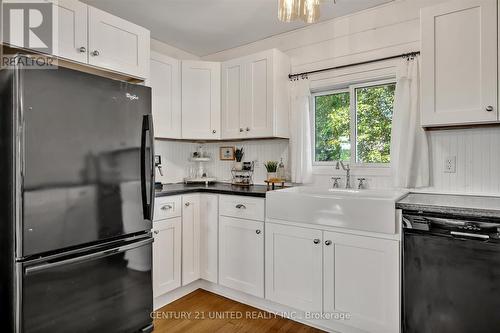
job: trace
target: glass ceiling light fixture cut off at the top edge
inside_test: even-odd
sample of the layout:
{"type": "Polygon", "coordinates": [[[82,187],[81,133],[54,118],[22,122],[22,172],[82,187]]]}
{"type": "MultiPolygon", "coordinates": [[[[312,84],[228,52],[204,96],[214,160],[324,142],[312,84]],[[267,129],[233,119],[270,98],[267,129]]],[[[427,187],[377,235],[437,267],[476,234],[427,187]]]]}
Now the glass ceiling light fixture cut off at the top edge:
{"type": "MultiPolygon", "coordinates": [[[[278,0],[278,19],[282,22],[302,20],[315,23],[320,17],[320,5],[326,0],[278,0]]],[[[336,3],[336,0],[333,0],[336,3]]]]}

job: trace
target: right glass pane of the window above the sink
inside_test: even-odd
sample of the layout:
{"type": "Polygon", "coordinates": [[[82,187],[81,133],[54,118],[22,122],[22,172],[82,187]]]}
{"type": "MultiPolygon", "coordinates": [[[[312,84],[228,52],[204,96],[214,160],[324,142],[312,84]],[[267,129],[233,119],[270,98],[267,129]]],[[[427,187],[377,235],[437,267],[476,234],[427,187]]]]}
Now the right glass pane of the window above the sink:
{"type": "Polygon", "coordinates": [[[356,89],[356,162],[390,163],[395,84],[356,89]]]}

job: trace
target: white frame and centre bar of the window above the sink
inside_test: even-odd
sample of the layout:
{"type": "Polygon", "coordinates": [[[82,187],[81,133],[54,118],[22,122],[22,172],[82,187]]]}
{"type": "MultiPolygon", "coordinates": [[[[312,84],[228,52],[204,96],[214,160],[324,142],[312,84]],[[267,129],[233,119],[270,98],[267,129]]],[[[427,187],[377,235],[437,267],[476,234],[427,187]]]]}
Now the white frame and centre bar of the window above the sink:
{"type": "MultiPolygon", "coordinates": [[[[337,161],[316,161],[316,97],[334,95],[339,93],[349,93],[349,131],[351,143],[351,158],[348,162],[349,165],[355,168],[368,168],[368,169],[383,169],[391,168],[391,163],[358,163],[357,162],[357,96],[356,89],[377,87],[389,84],[396,84],[396,78],[391,77],[387,79],[377,79],[371,81],[361,81],[350,83],[346,85],[339,85],[336,88],[328,90],[319,90],[311,94],[312,112],[311,112],[311,136],[312,136],[312,164],[313,167],[334,167],[337,161]]],[[[392,162],[392,159],[391,159],[392,162]]]]}

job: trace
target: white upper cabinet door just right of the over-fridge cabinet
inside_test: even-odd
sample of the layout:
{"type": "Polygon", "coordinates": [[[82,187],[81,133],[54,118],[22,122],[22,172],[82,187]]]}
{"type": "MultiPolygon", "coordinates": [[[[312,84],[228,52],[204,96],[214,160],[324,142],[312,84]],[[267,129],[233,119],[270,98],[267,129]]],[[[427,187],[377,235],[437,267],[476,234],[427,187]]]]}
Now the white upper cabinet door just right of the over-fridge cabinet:
{"type": "Polygon", "coordinates": [[[154,133],[157,138],[181,138],[180,61],[151,52],[148,85],[152,89],[154,133]]]}

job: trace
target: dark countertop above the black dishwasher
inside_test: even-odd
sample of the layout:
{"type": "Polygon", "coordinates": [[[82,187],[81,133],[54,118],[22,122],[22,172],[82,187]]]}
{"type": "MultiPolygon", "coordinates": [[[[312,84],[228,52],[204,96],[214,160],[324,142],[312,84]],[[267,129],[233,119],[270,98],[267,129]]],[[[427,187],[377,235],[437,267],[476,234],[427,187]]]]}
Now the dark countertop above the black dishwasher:
{"type": "Polygon", "coordinates": [[[411,193],[396,208],[463,217],[500,218],[500,197],[411,193]]]}

